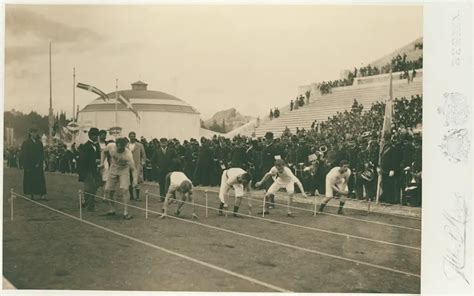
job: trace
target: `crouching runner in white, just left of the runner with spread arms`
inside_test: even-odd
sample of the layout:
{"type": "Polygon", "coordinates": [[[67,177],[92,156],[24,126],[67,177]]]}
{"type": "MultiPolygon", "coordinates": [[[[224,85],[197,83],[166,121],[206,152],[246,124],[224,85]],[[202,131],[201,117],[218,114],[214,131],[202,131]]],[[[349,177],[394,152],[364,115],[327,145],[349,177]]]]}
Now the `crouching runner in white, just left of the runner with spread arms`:
{"type": "MultiPolygon", "coordinates": [[[[247,192],[249,198],[251,197],[250,180],[252,180],[252,176],[241,168],[230,168],[222,172],[221,188],[219,191],[219,199],[221,201],[219,205],[219,215],[222,215],[222,210],[227,211],[228,206],[226,203],[226,197],[229,190],[234,188],[235,202],[233,215],[234,217],[241,217],[238,213],[242,197],[244,196],[244,191],[247,192]]],[[[250,209],[252,206],[250,204],[250,199],[248,205],[250,209]]]]}

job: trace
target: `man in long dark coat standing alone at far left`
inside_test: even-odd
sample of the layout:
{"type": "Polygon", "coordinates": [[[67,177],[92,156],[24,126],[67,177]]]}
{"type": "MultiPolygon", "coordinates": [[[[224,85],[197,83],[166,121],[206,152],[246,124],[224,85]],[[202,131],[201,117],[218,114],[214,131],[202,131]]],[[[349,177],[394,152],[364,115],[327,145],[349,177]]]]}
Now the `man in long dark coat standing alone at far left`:
{"type": "Polygon", "coordinates": [[[44,148],[38,137],[38,130],[31,128],[26,139],[21,145],[20,161],[23,165],[23,193],[34,199],[40,195],[46,199],[46,182],[44,178],[44,148]]]}

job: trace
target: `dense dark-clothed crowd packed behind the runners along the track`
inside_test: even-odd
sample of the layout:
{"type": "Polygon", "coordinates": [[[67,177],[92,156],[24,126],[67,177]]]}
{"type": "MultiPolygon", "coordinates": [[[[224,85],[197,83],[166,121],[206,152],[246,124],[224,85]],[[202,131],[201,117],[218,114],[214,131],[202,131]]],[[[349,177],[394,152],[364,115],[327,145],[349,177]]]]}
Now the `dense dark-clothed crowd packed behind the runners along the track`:
{"type": "MultiPolygon", "coordinates": [[[[354,198],[375,196],[376,168],[381,168],[384,194],[381,201],[398,203],[400,188],[415,180],[421,183],[421,134],[417,125],[422,121],[422,97],[399,98],[393,102],[392,133],[385,139],[379,162],[379,141],[384,103],[375,103],[365,110],[354,100],[351,110],[338,112],[325,122],[313,122],[311,129],[286,129],[281,137],[267,133],[264,138],[236,136],[233,139],[214,136],[211,139],[141,138],[146,155],[143,176],[147,181],[158,181],[171,171],[182,171],[194,185],[217,186],[221,173],[229,167],[240,167],[259,180],[279,155],[296,172],[310,194],[325,191],[325,174],[342,159],[348,160],[353,175],[349,188],[354,198]],[[166,157],[157,154],[165,147],[166,157]],[[407,170],[405,170],[407,168],[407,170]],[[389,177],[389,174],[393,176],[389,177]],[[410,176],[408,178],[407,176],[410,176]],[[408,178],[408,179],[407,179],[408,178]],[[362,189],[364,188],[364,189],[362,189]],[[390,189],[388,189],[390,188],[390,189]]],[[[44,168],[47,171],[74,173],[77,170],[82,145],[63,144],[45,147],[44,168]]],[[[10,147],[5,159],[10,167],[21,168],[19,149],[10,147]]],[[[420,191],[413,193],[419,204],[420,191]]]]}

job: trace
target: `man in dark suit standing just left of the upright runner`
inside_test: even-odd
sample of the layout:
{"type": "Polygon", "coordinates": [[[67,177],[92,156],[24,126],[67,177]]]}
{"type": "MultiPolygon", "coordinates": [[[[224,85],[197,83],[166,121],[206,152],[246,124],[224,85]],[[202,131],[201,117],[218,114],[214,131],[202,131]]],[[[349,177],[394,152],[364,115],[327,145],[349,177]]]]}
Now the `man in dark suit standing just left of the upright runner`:
{"type": "Polygon", "coordinates": [[[101,185],[101,177],[98,170],[100,163],[100,146],[97,142],[99,138],[99,130],[95,127],[88,132],[89,141],[81,145],[79,151],[78,173],[79,182],[84,183],[84,199],[83,207],[87,207],[88,211],[95,210],[95,198],[97,189],[101,185]]]}

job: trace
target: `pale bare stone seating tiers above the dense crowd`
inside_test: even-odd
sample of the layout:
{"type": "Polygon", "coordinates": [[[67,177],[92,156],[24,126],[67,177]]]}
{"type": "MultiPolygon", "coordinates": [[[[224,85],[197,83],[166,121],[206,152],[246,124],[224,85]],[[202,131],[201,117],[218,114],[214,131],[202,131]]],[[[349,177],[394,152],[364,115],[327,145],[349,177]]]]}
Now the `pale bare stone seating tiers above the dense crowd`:
{"type": "MultiPolygon", "coordinates": [[[[393,81],[393,97],[410,97],[416,94],[423,94],[423,78],[416,77],[410,84],[404,80],[393,81]]],[[[239,129],[241,135],[251,135],[255,131],[257,137],[264,136],[266,132],[273,132],[275,136],[280,136],[287,126],[292,133],[296,128],[311,128],[314,120],[325,121],[328,117],[338,111],[350,110],[354,99],[364,106],[364,110],[370,108],[372,103],[384,100],[388,97],[388,83],[362,84],[357,86],[337,87],[332,89],[332,93],[326,95],[312,95],[309,105],[304,105],[298,110],[289,111],[288,106],[280,108],[279,118],[269,120],[264,118],[260,126],[254,128],[254,124],[239,129]]],[[[237,134],[237,131],[234,131],[237,134]]]]}

